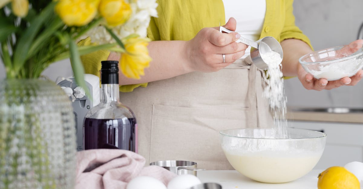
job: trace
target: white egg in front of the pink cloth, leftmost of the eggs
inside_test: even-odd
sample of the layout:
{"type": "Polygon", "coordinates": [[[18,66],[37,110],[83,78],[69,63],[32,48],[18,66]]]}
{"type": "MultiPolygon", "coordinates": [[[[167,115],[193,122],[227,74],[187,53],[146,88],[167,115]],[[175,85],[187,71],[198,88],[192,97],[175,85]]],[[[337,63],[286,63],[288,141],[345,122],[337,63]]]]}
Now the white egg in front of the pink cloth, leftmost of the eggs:
{"type": "Polygon", "coordinates": [[[148,176],[138,176],[127,184],[126,189],[167,189],[163,182],[148,176]]]}

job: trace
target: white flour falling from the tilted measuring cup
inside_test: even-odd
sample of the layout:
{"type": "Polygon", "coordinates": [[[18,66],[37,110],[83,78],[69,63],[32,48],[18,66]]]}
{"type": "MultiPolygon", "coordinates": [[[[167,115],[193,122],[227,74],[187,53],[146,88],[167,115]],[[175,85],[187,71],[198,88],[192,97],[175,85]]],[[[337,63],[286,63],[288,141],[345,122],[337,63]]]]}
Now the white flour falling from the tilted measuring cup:
{"type": "Polygon", "coordinates": [[[264,97],[268,99],[272,116],[277,129],[277,136],[287,137],[286,121],[286,96],[284,90],[284,79],[282,78],[282,58],[275,51],[261,54],[262,59],[268,64],[268,70],[264,75],[266,85],[264,86],[264,97]]]}

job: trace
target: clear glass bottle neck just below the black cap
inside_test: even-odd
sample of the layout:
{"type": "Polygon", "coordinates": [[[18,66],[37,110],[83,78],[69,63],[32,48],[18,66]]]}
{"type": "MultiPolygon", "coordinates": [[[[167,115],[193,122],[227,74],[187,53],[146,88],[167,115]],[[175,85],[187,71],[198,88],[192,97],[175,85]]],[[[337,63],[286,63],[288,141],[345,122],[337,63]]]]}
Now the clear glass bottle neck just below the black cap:
{"type": "Polygon", "coordinates": [[[119,93],[119,85],[118,84],[101,84],[101,103],[110,103],[110,102],[118,102],[120,93],[119,93]]]}

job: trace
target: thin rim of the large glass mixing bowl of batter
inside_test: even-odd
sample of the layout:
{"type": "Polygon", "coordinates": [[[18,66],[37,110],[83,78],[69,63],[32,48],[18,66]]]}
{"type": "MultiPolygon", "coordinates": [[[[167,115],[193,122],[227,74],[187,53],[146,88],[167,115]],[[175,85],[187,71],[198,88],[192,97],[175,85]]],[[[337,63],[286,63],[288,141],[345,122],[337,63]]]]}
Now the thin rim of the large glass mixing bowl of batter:
{"type": "Polygon", "coordinates": [[[225,130],[221,130],[219,131],[219,134],[225,136],[225,137],[233,137],[233,138],[244,138],[244,139],[266,139],[266,140],[298,140],[298,139],[314,139],[314,138],[324,138],[326,137],[325,133],[322,133],[320,131],[314,131],[314,130],[309,130],[309,129],[297,129],[297,128],[287,128],[287,130],[304,130],[304,131],[311,131],[314,133],[322,133],[322,136],[319,137],[305,137],[305,138],[252,138],[252,137],[237,137],[237,136],[231,136],[228,135],[226,133],[223,133],[224,131],[229,131],[229,130],[274,130],[274,128],[235,128],[235,129],[225,129],[225,130]]]}

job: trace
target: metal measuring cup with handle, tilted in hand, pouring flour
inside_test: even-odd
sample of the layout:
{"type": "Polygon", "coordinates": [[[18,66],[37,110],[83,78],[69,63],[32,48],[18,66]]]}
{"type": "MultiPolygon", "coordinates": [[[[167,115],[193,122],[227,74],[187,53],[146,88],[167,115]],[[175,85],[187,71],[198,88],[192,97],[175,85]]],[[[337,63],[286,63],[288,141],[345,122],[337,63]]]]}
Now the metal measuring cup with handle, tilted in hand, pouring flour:
{"type": "MultiPolygon", "coordinates": [[[[233,31],[220,26],[219,32],[231,33],[233,31]]],[[[282,53],[282,47],[280,43],[275,38],[270,36],[264,37],[256,42],[250,39],[246,39],[244,37],[240,37],[236,42],[237,43],[241,42],[248,46],[251,46],[250,56],[252,62],[257,68],[260,68],[261,70],[267,70],[269,67],[268,64],[261,57],[261,54],[268,53],[270,51],[275,51],[276,53],[280,54],[281,59],[284,56],[284,54],[282,53]]]]}

